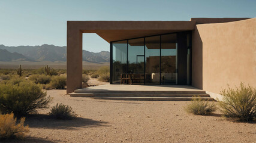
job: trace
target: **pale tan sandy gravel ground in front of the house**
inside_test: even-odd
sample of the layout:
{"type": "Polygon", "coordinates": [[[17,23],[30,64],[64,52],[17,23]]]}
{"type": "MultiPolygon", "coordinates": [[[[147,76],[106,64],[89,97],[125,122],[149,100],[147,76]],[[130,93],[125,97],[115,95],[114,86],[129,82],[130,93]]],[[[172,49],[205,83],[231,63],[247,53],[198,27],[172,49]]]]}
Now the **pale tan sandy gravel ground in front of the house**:
{"type": "MultiPolygon", "coordinates": [[[[64,90],[47,91],[57,102],[79,114],[54,120],[46,114],[27,117],[30,131],[22,142],[256,142],[256,123],[187,114],[189,101],[112,101],[76,98],[64,90]]],[[[9,141],[21,142],[21,141],[9,141]]]]}

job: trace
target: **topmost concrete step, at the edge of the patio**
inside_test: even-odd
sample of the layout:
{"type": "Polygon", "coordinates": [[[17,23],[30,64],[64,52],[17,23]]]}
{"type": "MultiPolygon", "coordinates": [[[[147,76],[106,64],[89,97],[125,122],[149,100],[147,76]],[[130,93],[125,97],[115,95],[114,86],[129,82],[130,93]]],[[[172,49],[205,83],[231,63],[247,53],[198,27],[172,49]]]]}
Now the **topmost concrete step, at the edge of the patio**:
{"type": "Polygon", "coordinates": [[[101,89],[76,89],[74,93],[83,94],[205,94],[205,91],[108,91],[101,89]]]}

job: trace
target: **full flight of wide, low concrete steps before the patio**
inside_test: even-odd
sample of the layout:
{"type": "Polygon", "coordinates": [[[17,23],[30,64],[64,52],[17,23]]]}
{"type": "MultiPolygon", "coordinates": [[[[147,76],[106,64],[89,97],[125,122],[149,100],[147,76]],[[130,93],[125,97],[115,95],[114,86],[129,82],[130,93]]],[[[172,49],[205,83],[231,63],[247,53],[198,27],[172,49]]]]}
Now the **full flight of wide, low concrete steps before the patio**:
{"type": "Polygon", "coordinates": [[[140,101],[190,101],[192,97],[213,101],[205,91],[111,91],[101,89],[77,89],[71,97],[89,97],[98,100],[140,101]]]}

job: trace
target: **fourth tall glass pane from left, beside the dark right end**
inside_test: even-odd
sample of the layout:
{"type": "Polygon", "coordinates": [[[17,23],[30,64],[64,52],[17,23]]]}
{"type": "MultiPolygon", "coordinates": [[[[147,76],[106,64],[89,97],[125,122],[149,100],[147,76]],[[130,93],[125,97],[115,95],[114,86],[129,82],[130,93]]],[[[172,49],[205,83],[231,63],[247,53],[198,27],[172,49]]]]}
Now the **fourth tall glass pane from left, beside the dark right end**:
{"type": "Polygon", "coordinates": [[[161,84],[177,84],[177,36],[161,36],[161,84]]]}

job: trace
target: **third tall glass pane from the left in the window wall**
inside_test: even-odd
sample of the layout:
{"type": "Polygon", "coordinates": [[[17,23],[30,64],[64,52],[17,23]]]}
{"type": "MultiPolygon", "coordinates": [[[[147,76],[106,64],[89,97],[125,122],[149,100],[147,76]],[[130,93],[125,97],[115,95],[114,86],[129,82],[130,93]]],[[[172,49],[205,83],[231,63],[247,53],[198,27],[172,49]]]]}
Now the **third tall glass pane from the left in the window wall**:
{"type": "Polygon", "coordinates": [[[160,36],[145,38],[145,83],[160,83],[160,36]]]}

